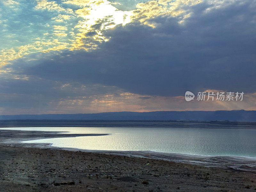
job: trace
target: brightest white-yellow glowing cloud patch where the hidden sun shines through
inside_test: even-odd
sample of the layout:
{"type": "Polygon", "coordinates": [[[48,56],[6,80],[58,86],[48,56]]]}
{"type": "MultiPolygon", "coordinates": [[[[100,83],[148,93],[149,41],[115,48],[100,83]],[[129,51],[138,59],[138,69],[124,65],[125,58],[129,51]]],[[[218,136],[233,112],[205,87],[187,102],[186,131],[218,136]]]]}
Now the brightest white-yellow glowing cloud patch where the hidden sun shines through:
{"type": "Polygon", "coordinates": [[[109,1],[66,1],[81,6],[76,10],[78,17],[83,18],[75,26],[79,31],[76,34],[74,48],[92,49],[97,43],[108,41],[109,37],[104,36],[103,31],[113,28],[116,25],[129,23],[132,12],[117,10],[109,1]]]}

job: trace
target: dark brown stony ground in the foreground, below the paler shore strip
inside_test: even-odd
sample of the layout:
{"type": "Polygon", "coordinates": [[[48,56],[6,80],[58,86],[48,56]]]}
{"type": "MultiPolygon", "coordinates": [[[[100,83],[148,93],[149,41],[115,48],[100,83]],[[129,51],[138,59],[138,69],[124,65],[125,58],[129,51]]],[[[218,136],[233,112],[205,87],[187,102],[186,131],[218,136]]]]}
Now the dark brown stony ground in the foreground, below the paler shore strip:
{"type": "Polygon", "coordinates": [[[0,145],[1,192],[247,192],[256,174],[161,159],[0,145]]]}

